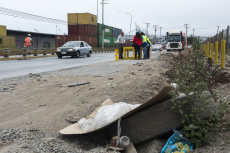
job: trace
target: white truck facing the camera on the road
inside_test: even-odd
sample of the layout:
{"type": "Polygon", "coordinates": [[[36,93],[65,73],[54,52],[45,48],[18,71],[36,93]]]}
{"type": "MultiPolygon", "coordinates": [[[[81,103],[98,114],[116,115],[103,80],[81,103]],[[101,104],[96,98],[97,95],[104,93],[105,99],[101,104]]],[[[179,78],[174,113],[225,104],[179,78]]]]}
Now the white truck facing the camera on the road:
{"type": "Polygon", "coordinates": [[[184,49],[184,36],[182,31],[172,30],[167,32],[165,40],[167,51],[182,51],[182,49],[184,49]]]}

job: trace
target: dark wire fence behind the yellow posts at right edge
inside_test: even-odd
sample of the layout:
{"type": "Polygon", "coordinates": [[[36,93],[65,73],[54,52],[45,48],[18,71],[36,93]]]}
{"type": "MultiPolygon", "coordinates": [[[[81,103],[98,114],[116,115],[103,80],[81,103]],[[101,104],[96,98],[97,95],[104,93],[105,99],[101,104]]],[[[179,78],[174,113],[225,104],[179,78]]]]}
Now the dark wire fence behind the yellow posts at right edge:
{"type": "Polygon", "coordinates": [[[207,42],[209,42],[210,44],[214,44],[217,41],[218,42],[218,50],[219,50],[219,54],[221,51],[221,40],[224,39],[225,40],[225,54],[226,55],[230,55],[230,34],[229,34],[229,26],[227,26],[226,29],[223,29],[221,32],[219,32],[218,34],[216,34],[213,37],[208,37],[202,44],[207,44],[207,42]]]}

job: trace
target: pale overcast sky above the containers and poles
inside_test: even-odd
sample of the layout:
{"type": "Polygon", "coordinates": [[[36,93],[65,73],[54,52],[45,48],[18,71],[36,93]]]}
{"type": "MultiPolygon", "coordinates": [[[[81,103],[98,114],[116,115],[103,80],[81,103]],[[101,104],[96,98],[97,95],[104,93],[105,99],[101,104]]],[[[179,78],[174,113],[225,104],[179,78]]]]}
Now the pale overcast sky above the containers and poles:
{"type": "MultiPolygon", "coordinates": [[[[98,0],[98,22],[102,22],[101,0],[98,0]]],[[[105,5],[105,24],[130,31],[135,23],[146,28],[151,23],[150,34],[154,34],[153,25],[163,27],[162,35],[168,30],[185,32],[184,24],[189,23],[188,35],[197,28],[195,35],[215,35],[217,26],[226,29],[230,23],[230,0],[107,0],[105,5]],[[206,29],[198,29],[206,28],[206,29]]],[[[97,14],[97,0],[0,0],[1,7],[26,12],[34,15],[67,21],[67,13],[97,14]]],[[[33,21],[0,14],[0,25],[7,29],[56,34],[56,24],[33,21]]],[[[67,33],[67,25],[58,24],[61,34],[67,33]]],[[[157,35],[159,35],[159,29],[157,35]]]]}

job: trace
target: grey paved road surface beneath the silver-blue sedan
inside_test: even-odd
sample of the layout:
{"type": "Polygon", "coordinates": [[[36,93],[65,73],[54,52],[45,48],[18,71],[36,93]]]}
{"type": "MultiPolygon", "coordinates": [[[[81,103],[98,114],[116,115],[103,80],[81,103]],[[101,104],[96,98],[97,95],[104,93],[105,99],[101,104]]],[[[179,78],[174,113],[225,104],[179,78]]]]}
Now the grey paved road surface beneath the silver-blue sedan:
{"type": "MultiPolygon", "coordinates": [[[[159,52],[152,52],[159,54],[159,52]]],[[[155,57],[155,56],[153,56],[155,57]]],[[[37,58],[30,60],[0,61],[0,79],[28,75],[29,73],[41,73],[101,62],[114,61],[114,53],[92,54],[91,57],[71,58],[57,57],[37,58]]]]}

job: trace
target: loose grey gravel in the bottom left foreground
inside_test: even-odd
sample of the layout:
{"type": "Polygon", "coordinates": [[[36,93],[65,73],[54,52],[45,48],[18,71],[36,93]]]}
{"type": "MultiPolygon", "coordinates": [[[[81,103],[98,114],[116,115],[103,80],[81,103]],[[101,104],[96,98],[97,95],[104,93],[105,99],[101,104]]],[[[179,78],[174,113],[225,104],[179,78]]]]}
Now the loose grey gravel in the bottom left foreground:
{"type": "Polygon", "coordinates": [[[0,129],[0,152],[7,153],[104,153],[107,152],[108,144],[105,131],[61,136],[58,133],[47,135],[36,128],[0,129]]]}

